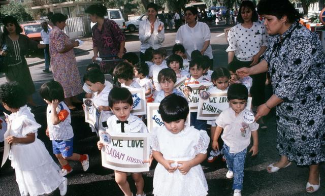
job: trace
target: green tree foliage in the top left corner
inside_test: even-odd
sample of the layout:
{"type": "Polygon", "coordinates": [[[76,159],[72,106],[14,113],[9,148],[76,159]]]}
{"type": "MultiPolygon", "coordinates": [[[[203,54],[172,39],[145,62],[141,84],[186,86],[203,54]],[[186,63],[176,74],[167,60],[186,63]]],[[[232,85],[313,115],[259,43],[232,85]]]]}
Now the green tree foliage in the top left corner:
{"type": "Polygon", "coordinates": [[[24,5],[16,1],[10,1],[9,4],[1,6],[0,13],[2,17],[10,15],[18,21],[32,20],[31,16],[26,12],[24,5]]]}

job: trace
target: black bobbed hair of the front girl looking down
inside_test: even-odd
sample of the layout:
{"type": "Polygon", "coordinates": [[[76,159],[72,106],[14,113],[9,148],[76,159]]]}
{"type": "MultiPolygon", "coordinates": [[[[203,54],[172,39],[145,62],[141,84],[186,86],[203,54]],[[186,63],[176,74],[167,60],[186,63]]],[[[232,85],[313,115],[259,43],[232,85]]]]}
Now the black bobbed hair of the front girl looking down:
{"type": "Polygon", "coordinates": [[[180,119],[186,121],[189,107],[184,97],[172,93],[160,102],[159,112],[164,122],[173,122],[180,119]]]}

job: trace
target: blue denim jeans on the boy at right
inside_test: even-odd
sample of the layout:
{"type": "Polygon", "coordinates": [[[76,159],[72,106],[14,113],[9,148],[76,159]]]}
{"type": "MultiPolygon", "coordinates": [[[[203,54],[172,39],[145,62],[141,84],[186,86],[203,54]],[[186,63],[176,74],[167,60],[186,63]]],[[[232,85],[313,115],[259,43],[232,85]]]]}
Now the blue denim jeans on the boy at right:
{"type": "Polygon", "coordinates": [[[221,153],[224,155],[229,171],[234,172],[233,189],[243,189],[244,165],[247,148],[238,153],[230,153],[229,146],[223,144],[221,153]]]}

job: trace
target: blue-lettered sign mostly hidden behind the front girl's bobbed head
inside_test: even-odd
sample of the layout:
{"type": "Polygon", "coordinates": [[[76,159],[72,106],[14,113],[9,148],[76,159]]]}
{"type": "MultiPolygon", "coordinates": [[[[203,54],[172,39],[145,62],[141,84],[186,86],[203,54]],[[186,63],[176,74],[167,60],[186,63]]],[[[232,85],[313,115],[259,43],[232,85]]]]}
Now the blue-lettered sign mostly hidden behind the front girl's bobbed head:
{"type": "MultiPolygon", "coordinates": [[[[147,111],[148,111],[148,121],[147,121],[147,128],[149,132],[156,127],[165,126],[163,119],[161,119],[160,112],[159,112],[159,105],[160,103],[148,103],[147,104],[147,111]]],[[[190,125],[190,115],[188,114],[185,124],[188,126],[190,125]]]]}

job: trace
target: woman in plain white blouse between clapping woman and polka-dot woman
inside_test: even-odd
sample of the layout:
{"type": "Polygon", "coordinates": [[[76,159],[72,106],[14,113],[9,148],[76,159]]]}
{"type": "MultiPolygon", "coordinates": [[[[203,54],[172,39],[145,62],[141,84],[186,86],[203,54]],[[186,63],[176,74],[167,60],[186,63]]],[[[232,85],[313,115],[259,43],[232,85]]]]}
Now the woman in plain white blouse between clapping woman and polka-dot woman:
{"type": "Polygon", "coordinates": [[[185,21],[176,34],[175,42],[182,44],[185,48],[187,58],[193,50],[201,51],[202,55],[210,58],[210,68],[213,67],[212,48],[210,45],[211,32],[209,26],[204,22],[198,22],[198,9],[194,7],[185,8],[185,21]]]}

